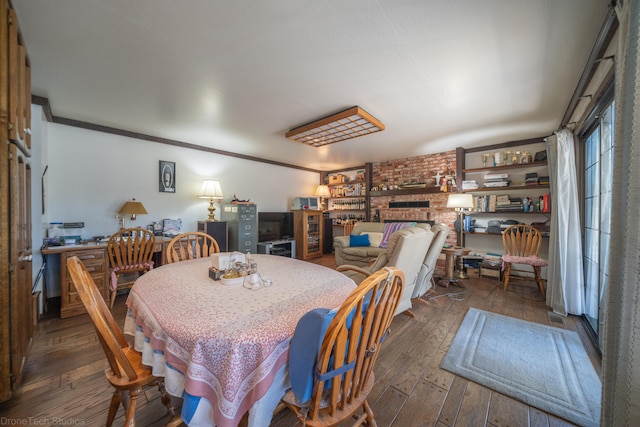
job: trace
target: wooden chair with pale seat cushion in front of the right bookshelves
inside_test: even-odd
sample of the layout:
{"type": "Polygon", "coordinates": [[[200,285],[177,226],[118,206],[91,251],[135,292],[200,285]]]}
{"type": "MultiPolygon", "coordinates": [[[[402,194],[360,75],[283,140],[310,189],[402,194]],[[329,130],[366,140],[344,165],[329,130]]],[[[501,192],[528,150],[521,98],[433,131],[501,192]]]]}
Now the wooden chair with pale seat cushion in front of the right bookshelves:
{"type": "Polygon", "coordinates": [[[542,245],[542,233],[531,225],[512,225],[502,233],[502,244],[505,253],[502,256],[502,269],[504,270],[502,283],[504,290],[506,291],[509,286],[511,266],[513,264],[523,264],[533,268],[535,281],[544,296],[544,280],[540,272],[542,267],[548,264],[547,261],[539,257],[540,246],[542,245]]]}

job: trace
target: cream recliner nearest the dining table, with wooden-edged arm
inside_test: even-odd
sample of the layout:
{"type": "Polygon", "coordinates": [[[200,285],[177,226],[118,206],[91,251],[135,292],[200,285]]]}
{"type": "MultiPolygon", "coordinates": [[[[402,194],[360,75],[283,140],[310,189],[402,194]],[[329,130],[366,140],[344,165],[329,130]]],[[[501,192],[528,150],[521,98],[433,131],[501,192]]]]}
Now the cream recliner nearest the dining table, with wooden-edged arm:
{"type": "Polygon", "coordinates": [[[356,283],[362,282],[366,277],[383,267],[395,267],[401,270],[404,273],[405,286],[395,314],[406,312],[413,317],[410,310],[411,298],[418,272],[433,237],[434,233],[428,224],[403,228],[391,235],[385,252],[378,255],[370,266],[360,267],[347,264],[338,266],[337,270],[351,277],[356,283]],[[427,228],[429,229],[427,230],[427,228]]]}

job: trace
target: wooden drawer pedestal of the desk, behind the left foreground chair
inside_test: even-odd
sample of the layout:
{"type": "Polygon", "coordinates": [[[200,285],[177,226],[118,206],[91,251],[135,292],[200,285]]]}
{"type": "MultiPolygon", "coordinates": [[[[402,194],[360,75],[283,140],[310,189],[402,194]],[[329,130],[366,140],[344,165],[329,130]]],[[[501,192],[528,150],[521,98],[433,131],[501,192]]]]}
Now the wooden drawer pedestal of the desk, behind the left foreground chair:
{"type": "Polygon", "coordinates": [[[67,270],[67,260],[73,256],[80,258],[107,304],[109,301],[109,260],[106,247],[66,250],[60,253],[60,317],[62,318],[87,312],[67,270]]]}

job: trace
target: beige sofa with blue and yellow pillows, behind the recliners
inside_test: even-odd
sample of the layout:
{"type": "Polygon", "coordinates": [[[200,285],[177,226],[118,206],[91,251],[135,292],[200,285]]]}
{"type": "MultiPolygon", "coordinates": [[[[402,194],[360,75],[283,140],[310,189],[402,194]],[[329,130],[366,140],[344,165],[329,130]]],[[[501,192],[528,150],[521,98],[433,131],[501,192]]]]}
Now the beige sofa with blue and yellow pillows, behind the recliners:
{"type": "Polygon", "coordinates": [[[423,228],[430,231],[431,226],[428,223],[415,223],[407,221],[406,223],[393,222],[357,222],[351,231],[349,236],[336,236],[333,238],[333,249],[336,256],[336,266],[341,265],[355,265],[358,267],[367,267],[378,255],[386,253],[386,246],[380,247],[384,239],[385,225],[387,226],[387,239],[393,234],[393,232],[404,227],[408,224],[412,224],[415,227],[423,228]],[[354,238],[351,236],[362,236],[368,234],[369,244],[366,246],[354,246],[351,244],[354,238]]]}

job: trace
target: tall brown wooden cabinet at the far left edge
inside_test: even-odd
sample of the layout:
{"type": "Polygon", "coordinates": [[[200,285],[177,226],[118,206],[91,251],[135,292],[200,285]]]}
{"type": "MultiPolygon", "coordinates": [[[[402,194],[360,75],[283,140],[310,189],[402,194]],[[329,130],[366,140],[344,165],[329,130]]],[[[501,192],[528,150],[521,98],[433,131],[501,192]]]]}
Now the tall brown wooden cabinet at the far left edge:
{"type": "Polygon", "coordinates": [[[30,66],[15,11],[0,0],[0,401],[11,398],[33,336],[30,66]]]}

